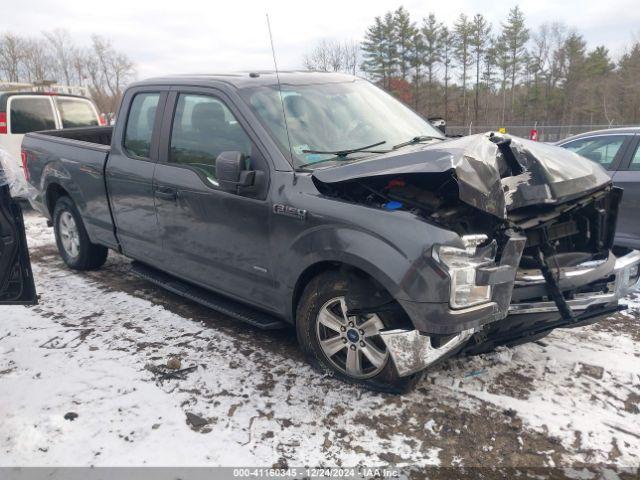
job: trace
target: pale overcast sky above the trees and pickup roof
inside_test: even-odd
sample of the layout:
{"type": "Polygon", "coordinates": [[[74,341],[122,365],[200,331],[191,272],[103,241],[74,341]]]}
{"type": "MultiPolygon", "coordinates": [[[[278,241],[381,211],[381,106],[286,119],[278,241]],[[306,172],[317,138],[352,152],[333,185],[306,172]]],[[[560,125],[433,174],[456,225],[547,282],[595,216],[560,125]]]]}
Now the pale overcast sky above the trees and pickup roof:
{"type": "Polygon", "coordinates": [[[482,13],[499,27],[516,3],[533,28],[561,21],[588,46],[604,44],[614,57],[640,39],[637,0],[21,0],[0,8],[0,32],[63,28],[78,44],[93,34],[112,40],[136,63],[138,78],[174,73],[272,69],[266,14],[280,69],[302,67],[304,53],[321,39],[361,40],[377,15],[400,5],[420,20],[434,12],[452,24],[460,13],[482,13]]]}

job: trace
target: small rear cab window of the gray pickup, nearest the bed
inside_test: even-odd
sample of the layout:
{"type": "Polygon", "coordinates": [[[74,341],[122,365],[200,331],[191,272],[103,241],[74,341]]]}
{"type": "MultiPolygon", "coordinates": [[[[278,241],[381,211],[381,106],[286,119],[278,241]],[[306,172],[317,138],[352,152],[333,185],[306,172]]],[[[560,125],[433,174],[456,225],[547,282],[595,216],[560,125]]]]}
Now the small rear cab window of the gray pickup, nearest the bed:
{"type": "Polygon", "coordinates": [[[139,93],[133,97],[124,135],[124,148],[129,155],[149,158],[159,100],[159,93],[139,93]]]}

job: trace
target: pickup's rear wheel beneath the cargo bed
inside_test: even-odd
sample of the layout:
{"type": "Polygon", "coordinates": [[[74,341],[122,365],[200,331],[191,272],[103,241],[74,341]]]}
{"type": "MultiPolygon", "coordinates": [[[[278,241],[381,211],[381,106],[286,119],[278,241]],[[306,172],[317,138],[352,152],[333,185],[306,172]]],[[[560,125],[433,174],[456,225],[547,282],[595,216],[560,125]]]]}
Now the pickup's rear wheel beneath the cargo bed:
{"type": "Polygon", "coordinates": [[[58,252],[74,270],[97,270],[107,261],[109,250],[91,243],[82,217],[69,197],[60,197],[53,209],[53,230],[58,252]]]}

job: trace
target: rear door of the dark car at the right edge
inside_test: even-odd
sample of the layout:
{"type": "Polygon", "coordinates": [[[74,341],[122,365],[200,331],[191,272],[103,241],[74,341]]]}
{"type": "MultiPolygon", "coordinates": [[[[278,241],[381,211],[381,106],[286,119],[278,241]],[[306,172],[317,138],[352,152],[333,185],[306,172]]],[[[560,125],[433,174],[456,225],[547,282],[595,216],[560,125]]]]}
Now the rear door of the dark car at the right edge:
{"type": "Polygon", "coordinates": [[[616,243],[631,248],[640,248],[640,136],[633,137],[624,161],[613,175],[613,183],[624,188],[616,243]]]}

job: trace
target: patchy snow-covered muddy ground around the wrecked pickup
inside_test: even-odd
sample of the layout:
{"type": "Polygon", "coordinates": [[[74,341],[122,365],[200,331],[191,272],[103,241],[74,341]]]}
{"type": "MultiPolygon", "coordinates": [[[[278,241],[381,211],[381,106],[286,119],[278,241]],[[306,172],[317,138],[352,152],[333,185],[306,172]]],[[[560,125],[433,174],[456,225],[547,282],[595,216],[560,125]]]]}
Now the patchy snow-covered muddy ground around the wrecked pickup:
{"type": "Polygon", "coordinates": [[[72,272],[44,220],[26,223],[41,297],[0,312],[0,466],[640,464],[636,297],[382,395],[312,370],[293,332],[163,292],[119,255],[72,272]],[[193,368],[166,376],[171,357],[193,368]]]}

